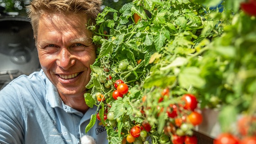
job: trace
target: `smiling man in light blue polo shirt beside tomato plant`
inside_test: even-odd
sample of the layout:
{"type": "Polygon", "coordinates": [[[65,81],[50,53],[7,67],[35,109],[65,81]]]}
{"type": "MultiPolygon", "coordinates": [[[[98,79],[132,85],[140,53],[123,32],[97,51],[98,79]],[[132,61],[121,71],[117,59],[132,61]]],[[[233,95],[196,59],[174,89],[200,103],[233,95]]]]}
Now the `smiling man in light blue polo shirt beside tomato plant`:
{"type": "Polygon", "coordinates": [[[83,94],[96,47],[88,24],[101,0],[32,0],[27,7],[42,70],[0,91],[0,144],[80,144],[91,135],[108,144],[100,121],[85,133],[95,108],[83,94]]]}

